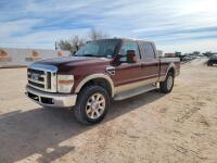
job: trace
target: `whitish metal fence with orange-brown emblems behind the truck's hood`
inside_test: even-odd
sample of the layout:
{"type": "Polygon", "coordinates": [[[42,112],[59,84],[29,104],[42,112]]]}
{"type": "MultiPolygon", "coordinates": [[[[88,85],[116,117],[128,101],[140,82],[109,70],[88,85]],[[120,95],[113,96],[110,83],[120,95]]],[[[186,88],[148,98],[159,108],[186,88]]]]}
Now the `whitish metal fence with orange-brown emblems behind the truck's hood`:
{"type": "Polygon", "coordinates": [[[0,48],[0,68],[28,66],[38,60],[67,57],[69,51],[0,48]]]}

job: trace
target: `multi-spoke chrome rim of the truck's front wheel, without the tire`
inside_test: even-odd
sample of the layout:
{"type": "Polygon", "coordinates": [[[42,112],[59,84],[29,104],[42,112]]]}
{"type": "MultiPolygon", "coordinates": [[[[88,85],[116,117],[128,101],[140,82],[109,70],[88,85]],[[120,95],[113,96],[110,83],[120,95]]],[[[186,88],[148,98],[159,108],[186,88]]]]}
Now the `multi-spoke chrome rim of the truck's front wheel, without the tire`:
{"type": "Polygon", "coordinates": [[[102,93],[92,95],[86,104],[87,116],[91,120],[99,118],[105,110],[105,98],[102,93]]]}

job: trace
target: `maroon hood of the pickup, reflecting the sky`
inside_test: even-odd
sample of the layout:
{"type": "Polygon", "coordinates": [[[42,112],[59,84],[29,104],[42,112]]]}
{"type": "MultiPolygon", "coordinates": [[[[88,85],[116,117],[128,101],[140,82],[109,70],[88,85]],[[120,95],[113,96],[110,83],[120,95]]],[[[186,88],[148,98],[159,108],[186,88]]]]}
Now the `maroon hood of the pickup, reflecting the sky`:
{"type": "Polygon", "coordinates": [[[91,65],[102,66],[110,64],[111,59],[105,58],[89,58],[89,57],[63,57],[47,60],[40,60],[35,64],[53,65],[56,66],[59,72],[72,71],[75,67],[89,68],[91,65]]]}

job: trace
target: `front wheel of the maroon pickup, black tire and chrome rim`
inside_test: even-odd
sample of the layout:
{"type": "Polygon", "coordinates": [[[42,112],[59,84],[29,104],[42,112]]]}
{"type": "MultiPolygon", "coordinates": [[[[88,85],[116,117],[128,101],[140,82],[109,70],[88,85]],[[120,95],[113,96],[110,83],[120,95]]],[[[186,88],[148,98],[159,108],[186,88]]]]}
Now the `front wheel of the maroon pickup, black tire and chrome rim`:
{"type": "Polygon", "coordinates": [[[108,108],[110,96],[107,91],[100,86],[88,86],[78,95],[78,100],[73,112],[79,123],[93,125],[104,118],[108,108]]]}

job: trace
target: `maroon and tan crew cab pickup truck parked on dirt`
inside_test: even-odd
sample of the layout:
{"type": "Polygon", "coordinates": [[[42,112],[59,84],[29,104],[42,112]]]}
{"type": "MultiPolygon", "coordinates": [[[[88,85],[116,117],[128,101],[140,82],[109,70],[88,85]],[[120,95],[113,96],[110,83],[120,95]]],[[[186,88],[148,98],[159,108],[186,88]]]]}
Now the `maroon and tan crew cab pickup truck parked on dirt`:
{"type": "Polygon", "coordinates": [[[42,106],[71,108],[77,121],[95,124],[111,101],[158,87],[170,92],[179,73],[180,60],[158,57],[153,42],[102,39],[86,43],[73,57],[29,65],[26,95],[42,106]]]}

